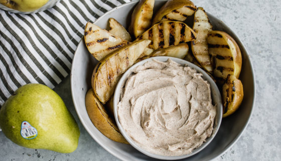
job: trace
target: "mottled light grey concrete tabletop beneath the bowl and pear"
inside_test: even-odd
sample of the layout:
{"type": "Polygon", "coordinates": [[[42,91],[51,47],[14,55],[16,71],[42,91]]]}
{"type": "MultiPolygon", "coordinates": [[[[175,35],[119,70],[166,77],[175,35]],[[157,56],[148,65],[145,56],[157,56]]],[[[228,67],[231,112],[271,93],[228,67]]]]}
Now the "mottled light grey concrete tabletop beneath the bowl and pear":
{"type": "MultiPolygon", "coordinates": [[[[281,1],[193,1],[223,20],[249,51],[256,79],[255,108],[249,125],[228,151],[215,160],[280,160],[281,1]],[[278,152],[279,151],[279,152],[278,152]]],[[[18,146],[0,132],[0,160],[118,160],[82,126],[75,112],[69,76],[55,88],[78,122],[81,135],[75,152],[57,153],[18,146]]]]}

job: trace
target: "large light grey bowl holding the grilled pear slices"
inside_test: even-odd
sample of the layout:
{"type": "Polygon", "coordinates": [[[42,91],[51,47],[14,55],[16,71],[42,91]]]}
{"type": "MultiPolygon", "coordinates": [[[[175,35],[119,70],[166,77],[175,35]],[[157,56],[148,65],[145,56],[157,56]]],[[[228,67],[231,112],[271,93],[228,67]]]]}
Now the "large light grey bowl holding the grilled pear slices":
{"type": "MultiPolygon", "coordinates": [[[[165,1],[156,0],[155,10],[157,11],[164,3],[165,1]]],[[[135,5],[136,2],[131,2],[114,8],[96,20],[95,24],[105,29],[107,27],[108,19],[114,18],[127,28],[130,21],[130,15],[135,5]]],[[[212,142],[202,151],[183,160],[211,160],[230,148],[246,127],[254,103],[255,89],[253,68],[245,47],[235,33],[233,33],[233,31],[222,21],[209,13],[207,14],[213,25],[213,29],[228,33],[240,47],[242,53],[242,71],[239,79],[243,84],[244,99],[240,108],[234,114],[222,119],[220,128],[212,142]]],[[[87,47],[85,46],[84,38],[82,38],[73,58],[70,75],[72,99],[81,123],[96,142],[111,154],[122,160],[156,160],[155,158],[147,156],[135,148],[132,148],[131,145],[118,143],[108,139],[92,124],[85,107],[85,95],[87,90],[91,88],[91,75],[97,62],[98,61],[89,54],[87,47]]]]}

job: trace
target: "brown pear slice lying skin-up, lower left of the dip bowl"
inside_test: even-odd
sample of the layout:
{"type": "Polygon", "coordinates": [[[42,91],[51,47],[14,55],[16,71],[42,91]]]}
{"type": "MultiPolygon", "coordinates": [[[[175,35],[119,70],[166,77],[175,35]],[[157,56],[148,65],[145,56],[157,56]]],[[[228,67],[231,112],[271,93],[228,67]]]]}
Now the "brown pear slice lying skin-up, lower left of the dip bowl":
{"type": "Polygon", "coordinates": [[[116,123],[110,118],[103,105],[90,89],[85,97],[86,110],[95,127],[106,137],[113,141],[129,144],[120,133],[116,123]]]}

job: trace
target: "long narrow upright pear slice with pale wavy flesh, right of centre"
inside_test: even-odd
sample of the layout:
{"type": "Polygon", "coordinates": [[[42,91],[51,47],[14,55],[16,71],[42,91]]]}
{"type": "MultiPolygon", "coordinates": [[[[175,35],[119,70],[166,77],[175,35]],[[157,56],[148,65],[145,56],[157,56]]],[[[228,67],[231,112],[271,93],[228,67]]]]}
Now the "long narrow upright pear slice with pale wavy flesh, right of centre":
{"type": "Polygon", "coordinates": [[[193,55],[205,70],[212,73],[213,65],[211,64],[207,42],[208,33],[212,31],[212,24],[202,7],[197,8],[194,14],[193,30],[197,35],[196,40],[191,43],[193,55]]]}

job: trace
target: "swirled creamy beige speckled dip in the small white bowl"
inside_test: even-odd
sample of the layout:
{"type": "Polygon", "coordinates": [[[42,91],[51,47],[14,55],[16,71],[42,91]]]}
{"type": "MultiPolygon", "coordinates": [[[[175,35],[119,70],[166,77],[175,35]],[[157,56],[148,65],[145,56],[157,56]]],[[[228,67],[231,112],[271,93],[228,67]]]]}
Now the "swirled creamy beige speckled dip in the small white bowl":
{"type": "Polygon", "coordinates": [[[216,106],[210,85],[196,70],[171,59],[152,59],[128,77],[118,103],[118,119],[143,149],[185,155],[213,132],[216,106]]]}

